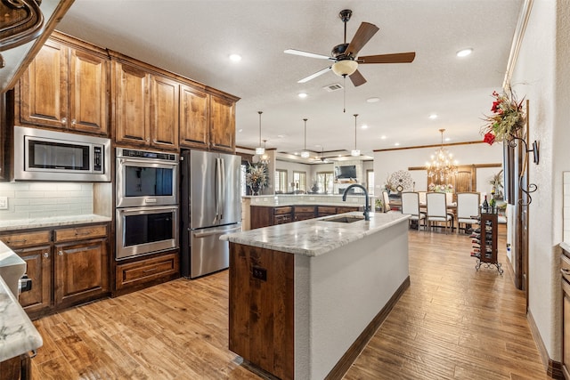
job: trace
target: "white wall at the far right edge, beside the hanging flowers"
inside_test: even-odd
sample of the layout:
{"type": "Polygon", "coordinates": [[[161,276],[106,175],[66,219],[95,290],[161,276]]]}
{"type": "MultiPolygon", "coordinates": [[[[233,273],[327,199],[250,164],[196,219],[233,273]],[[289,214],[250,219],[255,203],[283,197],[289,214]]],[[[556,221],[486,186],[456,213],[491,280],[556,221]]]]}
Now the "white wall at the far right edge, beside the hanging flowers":
{"type": "Polygon", "coordinates": [[[529,141],[541,162],[529,206],[529,312],[551,360],[562,360],[562,295],[558,244],[563,239],[563,172],[570,170],[570,19],[568,0],[535,0],[511,85],[530,101],[529,141]]]}

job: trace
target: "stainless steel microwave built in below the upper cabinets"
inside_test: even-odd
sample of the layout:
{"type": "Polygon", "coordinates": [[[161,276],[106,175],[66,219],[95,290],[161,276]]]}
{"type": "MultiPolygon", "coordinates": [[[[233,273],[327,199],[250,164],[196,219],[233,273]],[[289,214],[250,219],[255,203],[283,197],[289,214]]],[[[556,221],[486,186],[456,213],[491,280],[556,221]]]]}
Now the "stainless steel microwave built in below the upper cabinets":
{"type": "Polygon", "coordinates": [[[110,182],[110,139],[14,126],[14,180],[110,182]]]}

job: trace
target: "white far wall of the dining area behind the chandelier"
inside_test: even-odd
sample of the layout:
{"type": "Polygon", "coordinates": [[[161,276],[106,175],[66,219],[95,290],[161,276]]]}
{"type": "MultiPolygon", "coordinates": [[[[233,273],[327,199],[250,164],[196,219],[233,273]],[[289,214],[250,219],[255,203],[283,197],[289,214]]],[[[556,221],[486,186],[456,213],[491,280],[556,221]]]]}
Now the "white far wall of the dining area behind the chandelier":
{"type": "MultiPolygon", "coordinates": [[[[483,140],[483,137],[481,138],[483,140]]],[[[495,143],[489,145],[485,142],[480,144],[452,145],[446,147],[459,165],[472,164],[502,164],[502,145],[495,143]]],[[[398,170],[408,170],[409,167],[426,166],[429,157],[436,148],[417,148],[406,150],[384,150],[374,152],[374,192],[379,194],[387,177],[398,170]]],[[[489,184],[493,174],[497,174],[501,168],[479,168],[476,171],[477,188],[481,193],[490,193],[492,186],[489,184]]],[[[411,178],[415,184],[415,190],[428,190],[428,174],[425,170],[411,170],[411,178]]],[[[411,189],[404,189],[411,190],[411,189]]]]}

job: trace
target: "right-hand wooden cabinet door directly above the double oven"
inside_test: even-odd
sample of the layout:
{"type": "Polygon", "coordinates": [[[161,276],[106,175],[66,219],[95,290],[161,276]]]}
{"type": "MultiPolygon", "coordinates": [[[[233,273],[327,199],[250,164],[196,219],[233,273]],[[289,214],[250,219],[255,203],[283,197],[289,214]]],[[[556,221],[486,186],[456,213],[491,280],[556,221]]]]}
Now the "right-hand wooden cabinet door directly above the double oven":
{"type": "Polygon", "coordinates": [[[151,76],[151,145],[178,149],[180,85],[167,77],[151,76]]]}

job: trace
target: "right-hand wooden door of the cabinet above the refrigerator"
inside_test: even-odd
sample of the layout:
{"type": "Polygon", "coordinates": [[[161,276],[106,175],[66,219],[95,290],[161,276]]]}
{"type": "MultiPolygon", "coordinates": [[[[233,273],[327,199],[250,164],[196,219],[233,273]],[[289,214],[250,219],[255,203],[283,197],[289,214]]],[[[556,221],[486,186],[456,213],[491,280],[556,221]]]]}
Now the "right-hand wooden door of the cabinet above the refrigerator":
{"type": "Polygon", "coordinates": [[[235,102],[210,95],[210,146],[235,150],[235,102]]]}

